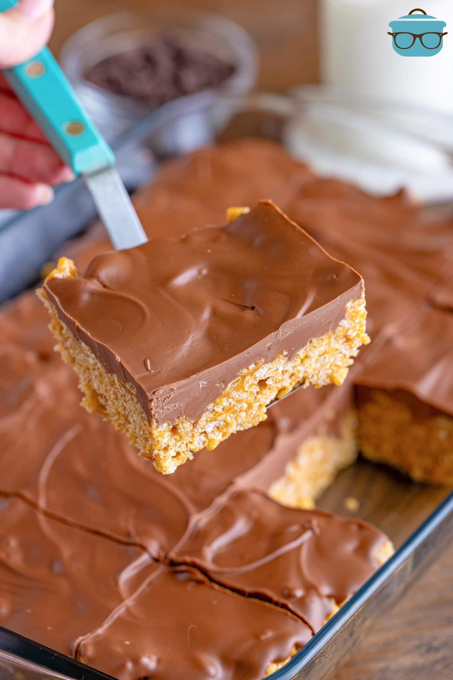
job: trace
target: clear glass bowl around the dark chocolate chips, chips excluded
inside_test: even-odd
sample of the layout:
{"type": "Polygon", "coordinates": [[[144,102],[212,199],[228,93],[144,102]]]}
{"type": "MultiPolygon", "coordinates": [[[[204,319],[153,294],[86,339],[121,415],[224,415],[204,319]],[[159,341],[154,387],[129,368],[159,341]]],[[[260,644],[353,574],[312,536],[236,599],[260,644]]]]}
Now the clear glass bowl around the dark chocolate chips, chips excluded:
{"type": "MultiPolygon", "coordinates": [[[[103,59],[137,48],[152,35],[166,32],[184,46],[202,49],[234,65],[234,73],[212,90],[213,95],[227,92],[244,95],[255,85],[257,48],[247,31],[230,19],[167,5],[164,9],[153,7],[105,16],[69,38],[60,52],[60,63],[88,113],[109,141],[143,119],[150,108],[137,99],[116,95],[88,82],[85,74],[103,59]]],[[[198,94],[174,101],[196,99],[198,94]]],[[[184,106],[182,103],[181,109],[184,106]]]]}

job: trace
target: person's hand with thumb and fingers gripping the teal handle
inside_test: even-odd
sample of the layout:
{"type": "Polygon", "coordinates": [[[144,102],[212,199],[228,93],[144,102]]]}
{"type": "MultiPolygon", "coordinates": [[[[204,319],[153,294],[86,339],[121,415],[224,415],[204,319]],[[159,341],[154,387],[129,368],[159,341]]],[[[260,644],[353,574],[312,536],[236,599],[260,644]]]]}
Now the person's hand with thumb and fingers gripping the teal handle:
{"type": "MultiPolygon", "coordinates": [[[[0,13],[0,70],[37,54],[53,26],[53,0],[20,0],[0,13]]],[[[46,205],[51,186],[73,179],[0,74],[0,208],[46,205]]]]}

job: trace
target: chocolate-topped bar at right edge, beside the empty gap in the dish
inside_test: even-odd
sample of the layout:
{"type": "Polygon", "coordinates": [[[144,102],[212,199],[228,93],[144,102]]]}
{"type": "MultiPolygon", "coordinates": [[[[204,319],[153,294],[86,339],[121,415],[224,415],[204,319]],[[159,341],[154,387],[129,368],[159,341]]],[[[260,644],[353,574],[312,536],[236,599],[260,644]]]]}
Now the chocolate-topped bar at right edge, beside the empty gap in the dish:
{"type": "Polygon", "coordinates": [[[357,379],[359,445],[415,481],[453,484],[453,313],[425,305],[357,379]]]}

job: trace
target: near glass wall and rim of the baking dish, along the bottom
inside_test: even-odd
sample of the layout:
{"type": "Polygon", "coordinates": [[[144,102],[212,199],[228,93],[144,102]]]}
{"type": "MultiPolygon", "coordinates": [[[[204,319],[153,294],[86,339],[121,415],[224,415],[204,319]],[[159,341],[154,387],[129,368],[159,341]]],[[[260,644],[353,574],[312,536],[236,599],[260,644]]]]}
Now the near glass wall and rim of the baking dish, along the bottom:
{"type": "MultiPolygon", "coordinates": [[[[354,467],[350,469],[352,477],[355,475],[354,467]]],[[[441,554],[451,542],[452,534],[453,492],[304,649],[289,664],[269,677],[272,680],[328,678],[350,656],[359,640],[367,633],[369,624],[386,608],[395,605],[405,588],[412,585],[436,556],[441,554]]],[[[2,680],[109,679],[109,676],[98,670],[88,668],[1,627],[0,677],[2,680]]]]}

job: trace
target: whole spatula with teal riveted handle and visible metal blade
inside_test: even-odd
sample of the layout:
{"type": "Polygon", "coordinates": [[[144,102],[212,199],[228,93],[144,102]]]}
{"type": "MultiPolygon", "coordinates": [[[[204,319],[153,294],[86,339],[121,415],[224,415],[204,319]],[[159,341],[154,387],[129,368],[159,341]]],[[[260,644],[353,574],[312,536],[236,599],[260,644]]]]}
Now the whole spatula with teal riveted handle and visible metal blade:
{"type": "MultiPolygon", "coordinates": [[[[0,12],[14,5],[16,0],[0,0],[0,12]]],[[[44,48],[3,75],[58,156],[84,178],[113,246],[122,250],[145,243],[143,226],[115,170],[113,151],[84,112],[50,50],[44,48]]]]}

